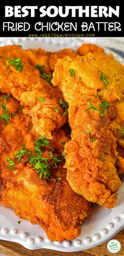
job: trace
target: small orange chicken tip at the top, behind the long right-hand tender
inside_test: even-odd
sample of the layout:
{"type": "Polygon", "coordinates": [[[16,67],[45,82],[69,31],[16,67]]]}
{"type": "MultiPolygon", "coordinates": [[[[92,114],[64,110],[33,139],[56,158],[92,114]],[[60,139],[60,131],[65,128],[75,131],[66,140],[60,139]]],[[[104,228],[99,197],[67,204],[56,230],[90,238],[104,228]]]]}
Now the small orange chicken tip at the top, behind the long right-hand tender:
{"type": "Polygon", "coordinates": [[[82,44],[78,47],[77,53],[81,56],[88,53],[104,53],[104,49],[94,44],[82,44]]]}

